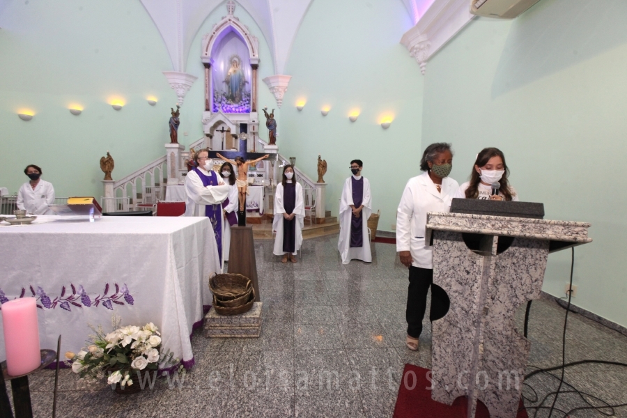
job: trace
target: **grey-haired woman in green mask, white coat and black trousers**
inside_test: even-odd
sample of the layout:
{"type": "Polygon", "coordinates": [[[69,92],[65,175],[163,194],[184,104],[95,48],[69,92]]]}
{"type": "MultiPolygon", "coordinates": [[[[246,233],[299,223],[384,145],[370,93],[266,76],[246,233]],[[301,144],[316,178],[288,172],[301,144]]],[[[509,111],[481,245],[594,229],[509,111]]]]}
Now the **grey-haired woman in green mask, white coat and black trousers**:
{"type": "Polygon", "coordinates": [[[409,268],[407,297],[407,339],[410,350],[418,350],[426,297],[431,287],[430,320],[442,318],[449,309],[449,299],[439,286],[433,285],[433,247],[424,240],[426,213],[449,212],[451,200],[459,188],[449,178],[453,167],[451,144],[435,143],[424,150],[420,176],[410,178],[396,214],[396,251],[401,263],[409,268]]]}

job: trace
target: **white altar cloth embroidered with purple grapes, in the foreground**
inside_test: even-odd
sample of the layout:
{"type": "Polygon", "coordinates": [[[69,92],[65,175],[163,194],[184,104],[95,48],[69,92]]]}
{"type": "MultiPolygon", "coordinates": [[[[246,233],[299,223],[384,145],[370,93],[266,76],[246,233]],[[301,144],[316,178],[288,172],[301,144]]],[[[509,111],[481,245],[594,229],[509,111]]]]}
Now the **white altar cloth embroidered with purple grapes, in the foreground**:
{"type": "MultiPolygon", "coordinates": [[[[220,272],[208,218],[102,217],[93,223],[0,226],[0,255],[0,302],[35,293],[42,308],[41,348],[56,350],[62,334],[61,353],[76,353],[93,334],[88,324],[110,332],[115,313],[122,325],[155,323],[164,348],[185,366],[194,364],[189,336],[203,318],[203,304],[212,302],[208,277],[220,272]]],[[[0,321],[0,360],[5,358],[0,321]]]]}

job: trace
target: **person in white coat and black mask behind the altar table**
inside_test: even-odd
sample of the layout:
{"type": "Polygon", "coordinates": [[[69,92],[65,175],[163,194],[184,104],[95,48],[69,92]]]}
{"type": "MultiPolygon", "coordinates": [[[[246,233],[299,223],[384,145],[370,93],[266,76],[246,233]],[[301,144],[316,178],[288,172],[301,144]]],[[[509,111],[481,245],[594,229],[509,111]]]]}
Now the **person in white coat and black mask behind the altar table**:
{"type": "Polygon", "coordinates": [[[42,171],[35,164],[26,166],[24,174],[31,180],[24,183],[17,192],[17,208],[26,209],[33,215],[54,215],[49,208],[54,203],[52,184],[42,180],[42,171]]]}

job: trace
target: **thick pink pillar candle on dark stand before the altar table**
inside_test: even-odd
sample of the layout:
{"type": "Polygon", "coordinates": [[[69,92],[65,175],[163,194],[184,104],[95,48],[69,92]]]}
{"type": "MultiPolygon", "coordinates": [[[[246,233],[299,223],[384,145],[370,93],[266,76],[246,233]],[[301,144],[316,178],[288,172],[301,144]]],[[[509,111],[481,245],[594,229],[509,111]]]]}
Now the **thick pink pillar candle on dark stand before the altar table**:
{"type": "Polygon", "coordinates": [[[6,371],[20,376],[41,364],[37,305],[34,297],[22,297],[2,304],[2,325],[6,347],[6,371]]]}

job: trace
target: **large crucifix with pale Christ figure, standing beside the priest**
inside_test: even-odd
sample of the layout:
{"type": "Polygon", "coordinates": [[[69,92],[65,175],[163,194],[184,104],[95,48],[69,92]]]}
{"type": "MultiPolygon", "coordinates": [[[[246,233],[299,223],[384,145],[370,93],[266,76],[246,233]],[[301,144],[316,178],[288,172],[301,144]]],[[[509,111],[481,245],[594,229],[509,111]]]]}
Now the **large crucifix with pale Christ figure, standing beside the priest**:
{"type": "Polygon", "coordinates": [[[236,183],[238,185],[238,194],[240,200],[240,207],[238,213],[238,225],[246,226],[246,195],[248,189],[248,167],[251,162],[259,162],[268,158],[270,160],[277,160],[278,154],[264,154],[264,153],[248,153],[247,141],[248,134],[242,133],[238,137],[240,141],[239,151],[209,151],[209,157],[220,158],[226,162],[230,162],[238,170],[238,178],[236,183]]]}

